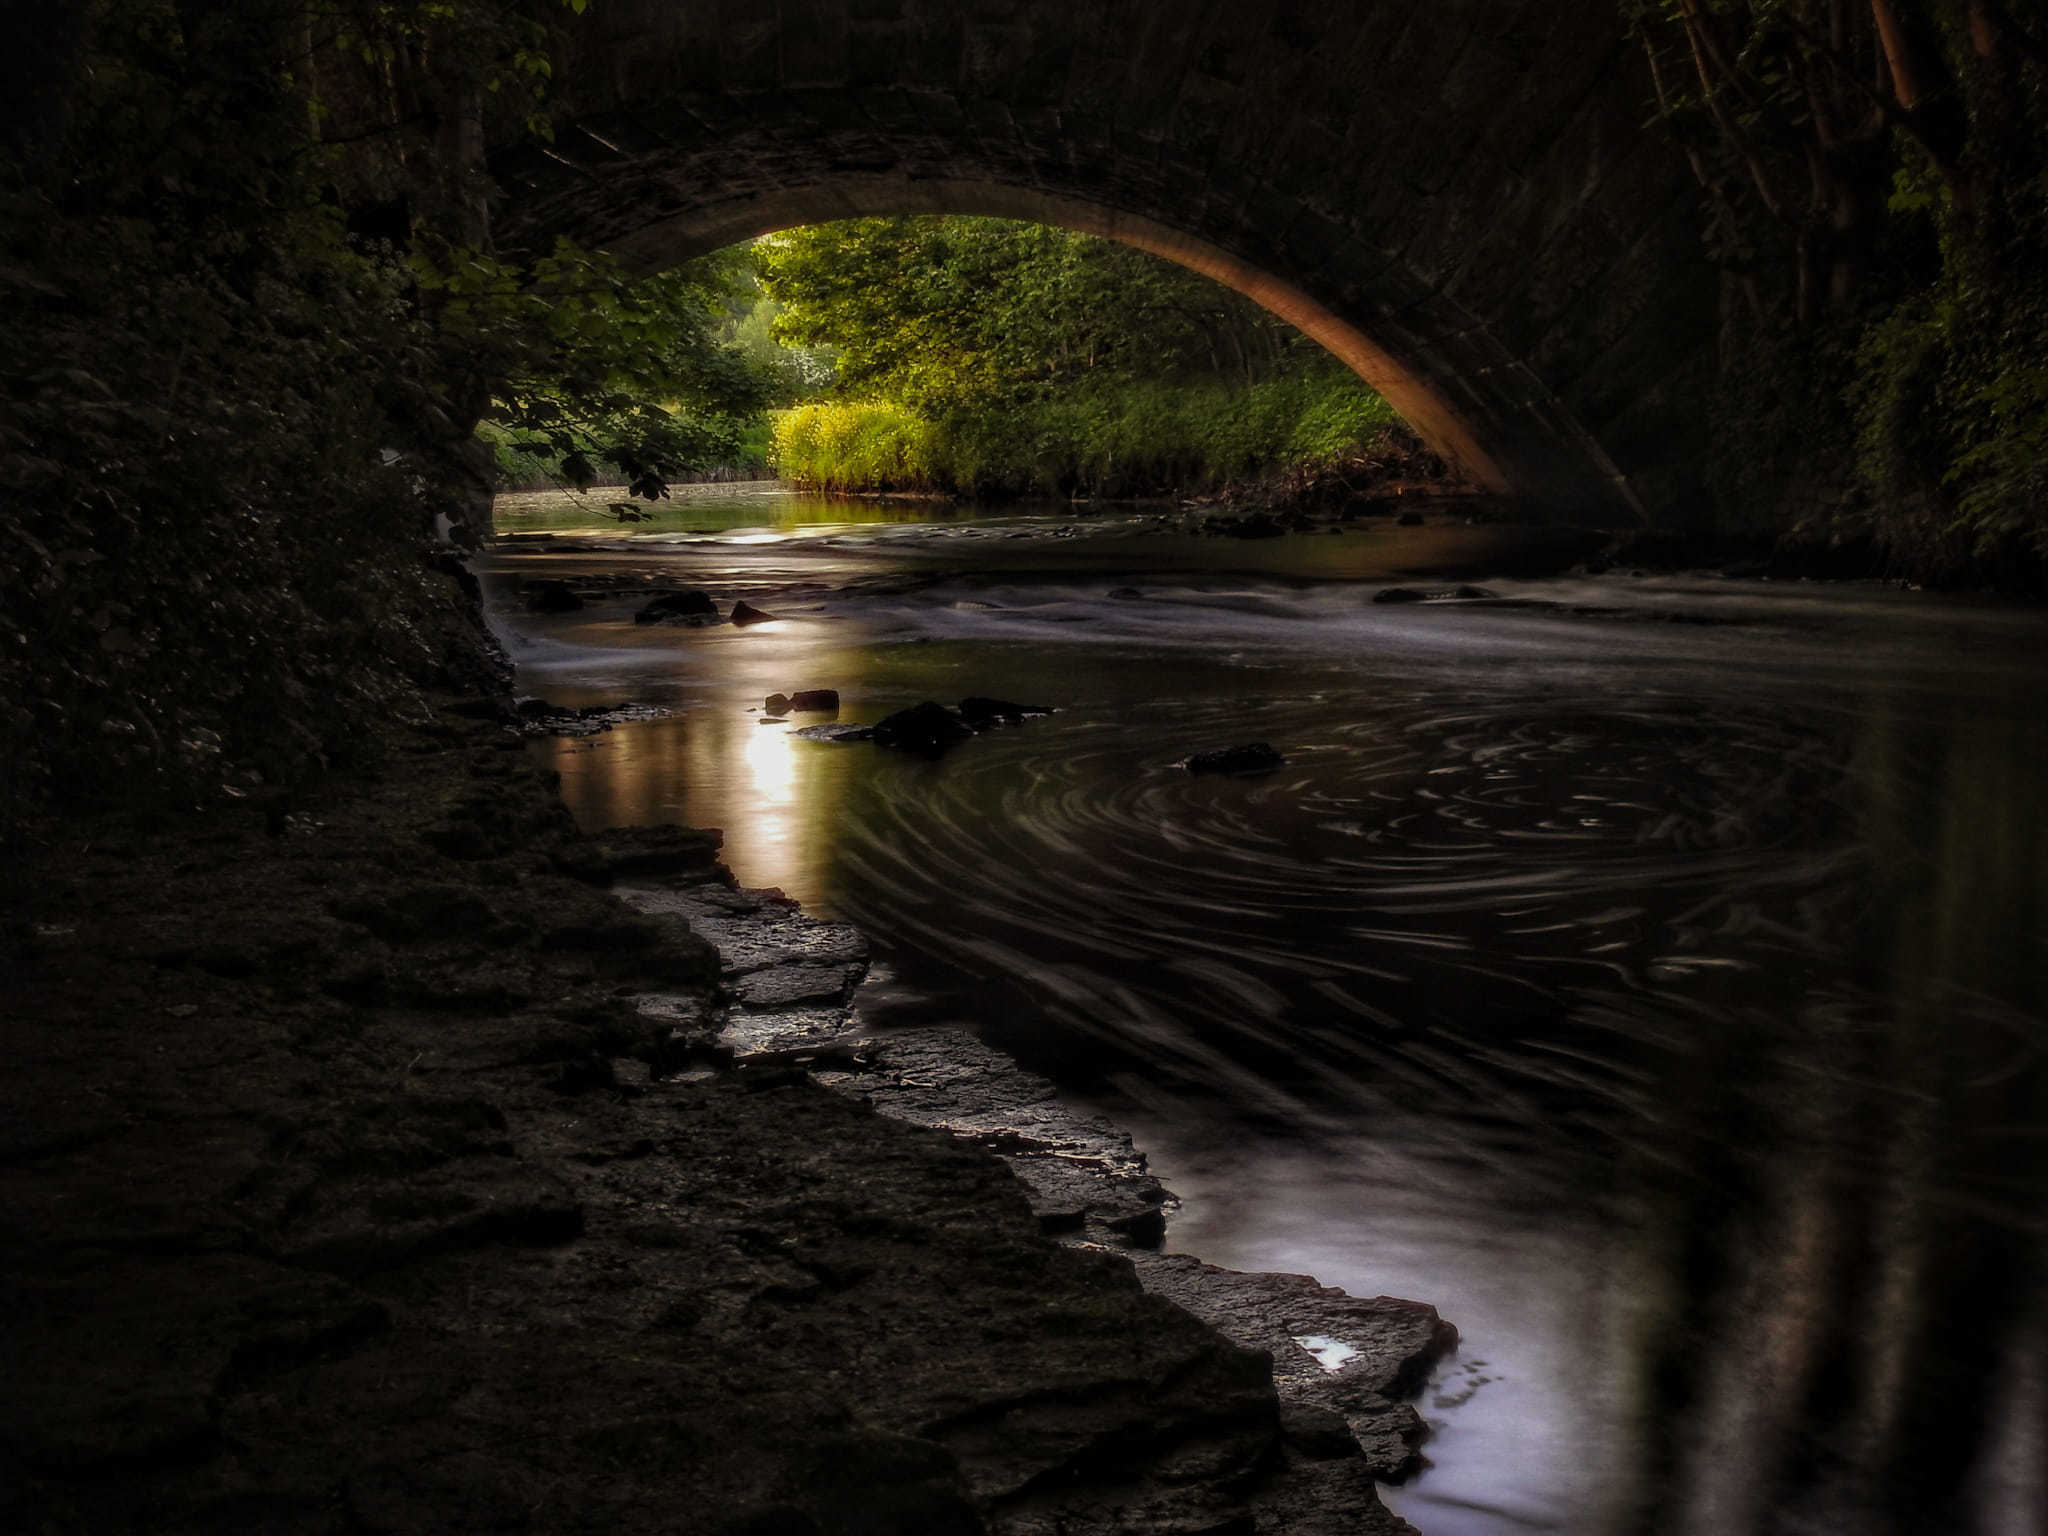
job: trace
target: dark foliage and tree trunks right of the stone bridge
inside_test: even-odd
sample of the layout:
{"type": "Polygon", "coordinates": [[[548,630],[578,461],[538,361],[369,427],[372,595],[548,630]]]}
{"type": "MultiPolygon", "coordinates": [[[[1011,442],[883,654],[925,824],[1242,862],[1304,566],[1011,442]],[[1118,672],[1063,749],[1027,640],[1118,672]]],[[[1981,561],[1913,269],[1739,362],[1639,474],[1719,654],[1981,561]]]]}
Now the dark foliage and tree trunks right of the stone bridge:
{"type": "Polygon", "coordinates": [[[1874,530],[1901,569],[2038,582],[2048,569],[2038,14],[1995,0],[1622,0],[1622,10],[1661,121],[1700,178],[1708,250],[1735,299],[1722,485],[1735,516],[1835,473],[1862,502],[1833,520],[1874,530]]]}

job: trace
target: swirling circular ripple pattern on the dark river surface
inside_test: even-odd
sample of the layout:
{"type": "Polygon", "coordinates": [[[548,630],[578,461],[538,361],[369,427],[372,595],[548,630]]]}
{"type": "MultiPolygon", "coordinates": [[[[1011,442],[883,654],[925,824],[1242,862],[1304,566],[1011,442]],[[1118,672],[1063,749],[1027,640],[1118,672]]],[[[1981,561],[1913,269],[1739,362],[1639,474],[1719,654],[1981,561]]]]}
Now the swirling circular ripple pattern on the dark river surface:
{"type": "Polygon", "coordinates": [[[1647,1112],[1642,1059],[1671,1049],[1645,999],[1839,950],[1843,772],[1765,707],[1184,698],[885,764],[838,834],[840,907],[1153,1092],[1298,1124],[1446,1102],[1599,1122],[1647,1112]],[[1286,766],[1178,766],[1251,737],[1286,766]],[[1604,991],[1630,995],[1626,1044],[1604,991]]]}

